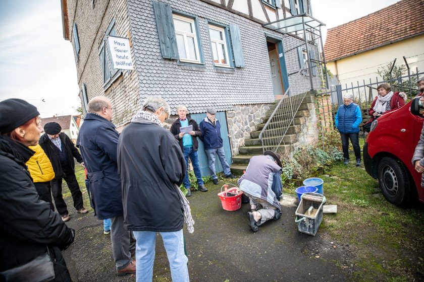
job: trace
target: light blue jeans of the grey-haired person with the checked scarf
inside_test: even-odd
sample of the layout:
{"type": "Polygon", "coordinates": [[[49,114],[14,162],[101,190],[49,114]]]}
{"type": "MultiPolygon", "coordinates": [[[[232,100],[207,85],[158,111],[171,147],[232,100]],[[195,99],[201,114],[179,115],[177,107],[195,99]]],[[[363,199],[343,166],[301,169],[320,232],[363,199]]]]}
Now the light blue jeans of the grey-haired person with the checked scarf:
{"type": "MultiPolygon", "coordinates": [[[[136,279],[142,282],[151,281],[153,277],[156,232],[133,231],[133,233],[136,239],[136,279]]],[[[184,254],[183,230],[159,233],[167,251],[172,280],[175,282],[188,282],[188,258],[184,254]]]]}

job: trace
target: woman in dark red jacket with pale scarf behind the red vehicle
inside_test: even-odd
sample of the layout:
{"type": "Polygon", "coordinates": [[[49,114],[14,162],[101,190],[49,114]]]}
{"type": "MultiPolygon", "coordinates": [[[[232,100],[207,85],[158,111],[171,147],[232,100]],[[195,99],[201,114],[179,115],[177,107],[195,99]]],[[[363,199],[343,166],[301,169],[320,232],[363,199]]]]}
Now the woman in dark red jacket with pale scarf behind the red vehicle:
{"type": "Polygon", "coordinates": [[[367,132],[369,132],[371,122],[373,122],[376,118],[400,109],[405,105],[406,94],[403,92],[393,93],[390,84],[380,84],[379,87],[377,87],[377,91],[379,92],[379,96],[374,99],[371,104],[371,108],[368,111],[371,118],[363,125],[364,130],[367,132]]]}

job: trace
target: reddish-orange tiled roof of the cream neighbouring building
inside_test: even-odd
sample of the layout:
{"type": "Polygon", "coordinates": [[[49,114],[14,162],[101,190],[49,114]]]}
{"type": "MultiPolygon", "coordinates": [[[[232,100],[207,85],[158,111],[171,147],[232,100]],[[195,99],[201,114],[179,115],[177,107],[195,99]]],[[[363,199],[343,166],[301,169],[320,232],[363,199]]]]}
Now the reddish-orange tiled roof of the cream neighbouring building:
{"type": "Polygon", "coordinates": [[[331,28],[324,53],[327,61],[424,34],[424,0],[402,0],[382,10],[331,28]]]}

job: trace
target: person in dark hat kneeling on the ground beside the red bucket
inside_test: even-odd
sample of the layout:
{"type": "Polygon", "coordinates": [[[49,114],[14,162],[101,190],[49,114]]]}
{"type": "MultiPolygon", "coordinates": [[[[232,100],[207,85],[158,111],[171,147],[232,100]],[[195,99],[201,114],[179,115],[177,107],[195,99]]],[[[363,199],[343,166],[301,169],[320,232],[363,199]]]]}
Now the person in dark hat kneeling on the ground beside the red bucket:
{"type": "Polygon", "coordinates": [[[237,182],[250,200],[251,211],[247,217],[253,232],[266,221],[281,217],[281,167],[280,156],[273,151],[265,151],[263,156],[250,159],[246,172],[237,182]]]}

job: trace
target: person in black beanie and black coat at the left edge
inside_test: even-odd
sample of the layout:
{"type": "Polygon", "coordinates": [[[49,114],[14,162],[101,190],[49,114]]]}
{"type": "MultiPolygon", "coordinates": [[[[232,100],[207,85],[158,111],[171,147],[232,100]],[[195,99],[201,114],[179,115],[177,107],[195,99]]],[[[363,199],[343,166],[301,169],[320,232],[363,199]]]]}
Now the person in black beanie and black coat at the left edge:
{"type": "Polygon", "coordinates": [[[75,231],[40,199],[25,165],[42,132],[38,115],[24,100],[0,102],[0,281],[71,281],[61,250],[75,231]]]}

